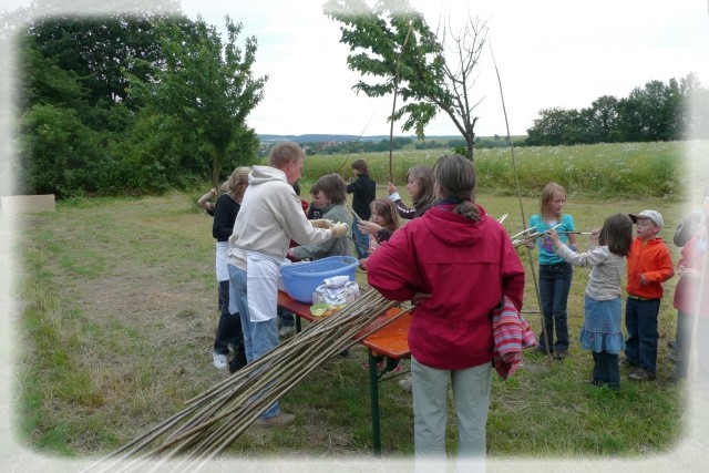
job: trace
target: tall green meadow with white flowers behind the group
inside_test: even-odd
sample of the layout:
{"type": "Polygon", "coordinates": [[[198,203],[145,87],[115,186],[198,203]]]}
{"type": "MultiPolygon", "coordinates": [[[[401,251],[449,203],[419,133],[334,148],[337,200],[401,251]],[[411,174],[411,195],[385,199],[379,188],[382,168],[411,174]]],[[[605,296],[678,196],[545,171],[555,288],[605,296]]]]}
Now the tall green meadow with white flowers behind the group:
{"type": "MultiPolygon", "coordinates": [[[[684,142],[668,142],[477,150],[475,166],[480,189],[495,195],[517,194],[511,157],[514,153],[523,195],[536,196],[548,182],[556,182],[572,196],[678,199],[685,197],[687,188],[686,146],[684,142]]],[[[433,165],[444,153],[444,150],[398,151],[392,154],[391,168],[388,153],[308,156],[305,179],[315,181],[335,172],[347,178],[351,175],[351,162],[364,158],[374,181],[386,183],[392,178],[402,184],[411,166],[433,165]]]]}

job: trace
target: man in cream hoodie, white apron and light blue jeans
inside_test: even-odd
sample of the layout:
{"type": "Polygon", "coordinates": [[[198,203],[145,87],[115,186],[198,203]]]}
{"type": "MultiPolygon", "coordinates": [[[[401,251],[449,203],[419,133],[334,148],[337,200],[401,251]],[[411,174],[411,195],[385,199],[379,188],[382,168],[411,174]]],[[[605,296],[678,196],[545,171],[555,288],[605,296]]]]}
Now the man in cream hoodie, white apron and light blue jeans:
{"type": "MultiPolygon", "coordinates": [[[[269,166],[253,167],[229,237],[229,311],[242,318],[247,362],[278,346],[278,273],[290,240],[318,244],[341,238],[349,229],[347,224],[306,218],[291,186],[300,178],[304,161],[297,143],[282,142],[271,150],[269,166]]],[[[280,412],[275,402],[256,424],[285,426],[294,421],[295,415],[280,412]]]]}

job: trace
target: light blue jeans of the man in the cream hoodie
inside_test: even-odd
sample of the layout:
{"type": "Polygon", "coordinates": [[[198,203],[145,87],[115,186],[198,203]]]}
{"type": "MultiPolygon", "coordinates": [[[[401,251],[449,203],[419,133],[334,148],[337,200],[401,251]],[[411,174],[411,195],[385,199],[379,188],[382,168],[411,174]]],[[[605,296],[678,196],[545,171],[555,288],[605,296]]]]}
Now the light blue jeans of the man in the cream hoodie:
{"type": "MultiPolygon", "coordinates": [[[[251,322],[248,316],[248,298],[246,295],[246,271],[229,265],[229,282],[232,294],[236,297],[236,304],[242,319],[244,330],[244,348],[246,361],[251,362],[278,347],[277,318],[264,322],[251,322]]],[[[278,415],[278,402],[274,402],[261,415],[261,419],[269,419],[278,415]]]]}

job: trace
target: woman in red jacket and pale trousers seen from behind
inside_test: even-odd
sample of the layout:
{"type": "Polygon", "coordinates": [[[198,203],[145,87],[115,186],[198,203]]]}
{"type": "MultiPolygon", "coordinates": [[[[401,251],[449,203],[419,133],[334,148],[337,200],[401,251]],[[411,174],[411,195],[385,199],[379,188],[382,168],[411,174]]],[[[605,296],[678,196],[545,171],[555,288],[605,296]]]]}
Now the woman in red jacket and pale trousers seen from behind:
{"type": "Polygon", "coordinates": [[[409,347],[417,460],[445,459],[448,384],[453,384],[459,460],[485,455],[493,332],[503,296],[522,308],[524,268],[505,229],[474,203],[475,171],[460,155],[433,168],[439,198],[368,261],[386,298],[415,305],[409,347]]]}

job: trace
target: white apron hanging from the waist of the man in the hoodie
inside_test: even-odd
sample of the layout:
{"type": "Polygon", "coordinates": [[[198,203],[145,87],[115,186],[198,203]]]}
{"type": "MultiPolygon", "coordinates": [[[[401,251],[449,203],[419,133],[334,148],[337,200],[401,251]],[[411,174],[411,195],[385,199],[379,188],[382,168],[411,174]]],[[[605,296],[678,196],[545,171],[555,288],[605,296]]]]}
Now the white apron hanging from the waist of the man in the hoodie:
{"type": "Polygon", "coordinates": [[[278,306],[278,274],[282,258],[258,251],[248,251],[246,294],[248,317],[251,322],[275,319],[278,306]]]}

